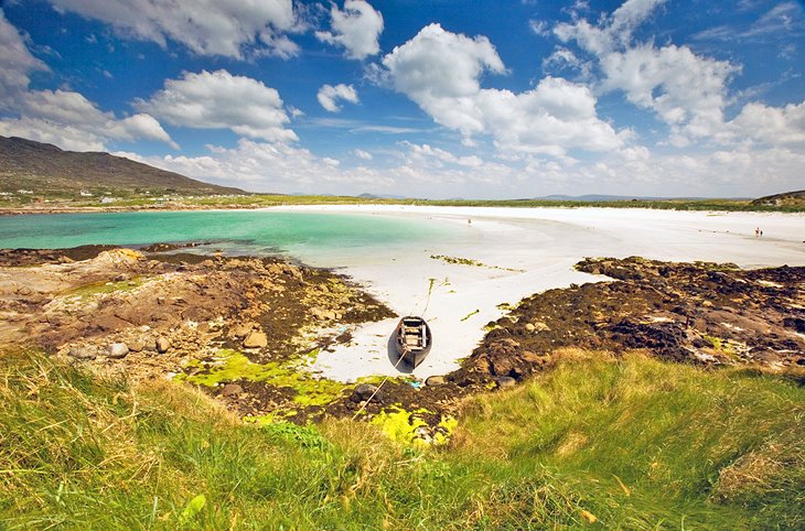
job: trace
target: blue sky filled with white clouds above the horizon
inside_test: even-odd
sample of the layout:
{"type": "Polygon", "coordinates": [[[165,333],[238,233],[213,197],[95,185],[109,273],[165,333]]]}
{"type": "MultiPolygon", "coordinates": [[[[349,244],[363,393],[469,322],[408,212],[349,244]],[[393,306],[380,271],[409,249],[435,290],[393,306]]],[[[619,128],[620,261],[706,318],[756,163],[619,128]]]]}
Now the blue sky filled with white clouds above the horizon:
{"type": "Polygon", "coordinates": [[[802,0],[0,0],[0,136],[253,192],[805,188],[802,0]]]}

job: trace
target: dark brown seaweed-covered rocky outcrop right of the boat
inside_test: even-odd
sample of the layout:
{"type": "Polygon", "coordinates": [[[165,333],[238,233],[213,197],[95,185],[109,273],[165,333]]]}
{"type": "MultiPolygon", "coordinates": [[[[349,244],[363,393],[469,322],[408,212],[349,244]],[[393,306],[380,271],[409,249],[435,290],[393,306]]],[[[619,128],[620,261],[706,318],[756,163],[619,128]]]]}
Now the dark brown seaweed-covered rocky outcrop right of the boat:
{"type": "Polygon", "coordinates": [[[805,268],[741,270],[731,263],[587,259],[580,271],[615,282],[548,290],[523,300],[491,330],[457,377],[517,380],[550,364],[562,347],[645,349],[677,362],[803,362],[797,332],[805,268]]]}

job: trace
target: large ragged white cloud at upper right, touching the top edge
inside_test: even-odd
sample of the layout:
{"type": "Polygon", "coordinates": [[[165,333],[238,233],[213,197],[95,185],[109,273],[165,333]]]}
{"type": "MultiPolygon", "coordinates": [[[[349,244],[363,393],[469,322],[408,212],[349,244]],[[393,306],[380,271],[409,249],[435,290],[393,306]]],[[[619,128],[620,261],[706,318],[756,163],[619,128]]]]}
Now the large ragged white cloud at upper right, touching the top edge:
{"type": "Polygon", "coordinates": [[[632,43],[634,30],[664,2],[629,0],[594,25],[580,19],[558,24],[554,32],[598,58],[604,90],[623,90],[632,104],[656,112],[670,127],[672,143],[727,140],[727,84],[740,68],[696,55],[687,46],[632,43]]]}

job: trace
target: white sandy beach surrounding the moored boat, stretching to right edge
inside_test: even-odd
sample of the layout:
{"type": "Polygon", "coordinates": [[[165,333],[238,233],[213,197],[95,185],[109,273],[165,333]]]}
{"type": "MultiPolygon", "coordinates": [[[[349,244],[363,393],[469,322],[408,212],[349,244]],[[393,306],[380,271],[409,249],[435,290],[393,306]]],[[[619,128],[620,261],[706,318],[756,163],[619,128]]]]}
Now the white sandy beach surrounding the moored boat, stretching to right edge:
{"type": "MultiPolygon", "coordinates": [[[[405,251],[350,252],[313,263],[343,268],[395,312],[426,317],[434,340],[415,371],[418,378],[458,368],[483,337],[484,326],[505,313],[498,308],[502,303],[515,304],[551,288],[605,280],[572,269],[583,257],[641,256],[734,262],[744,268],[805,264],[802,214],[398,205],[281,209],[412,216],[455,224],[455,240],[405,251]],[[762,238],[755,238],[755,227],[763,230],[762,238]],[[446,263],[432,254],[475,260],[490,268],[446,263]],[[428,297],[430,279],[434,281],[428,297]]],[[[404,367],[395,368],[396,357],[389,353],[395,325],[396,319],[387,319],[354,329],[352,344],[322,351],[311,369],[342,381],[405,373],[404,367]]]]}

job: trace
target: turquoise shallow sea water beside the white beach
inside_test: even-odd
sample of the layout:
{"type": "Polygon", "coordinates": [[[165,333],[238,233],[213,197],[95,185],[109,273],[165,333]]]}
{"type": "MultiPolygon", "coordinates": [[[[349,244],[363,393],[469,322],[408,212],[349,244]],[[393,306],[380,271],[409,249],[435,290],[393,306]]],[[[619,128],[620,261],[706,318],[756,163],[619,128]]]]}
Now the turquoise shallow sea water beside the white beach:
{"type": "Polygon", "coordinates": [[[310,259],[451,238],[453,230],[437,221],[368,214],[259,210],[60,214],[0,217],[0,248],[211,241],[211,250],[310,259]]]}

